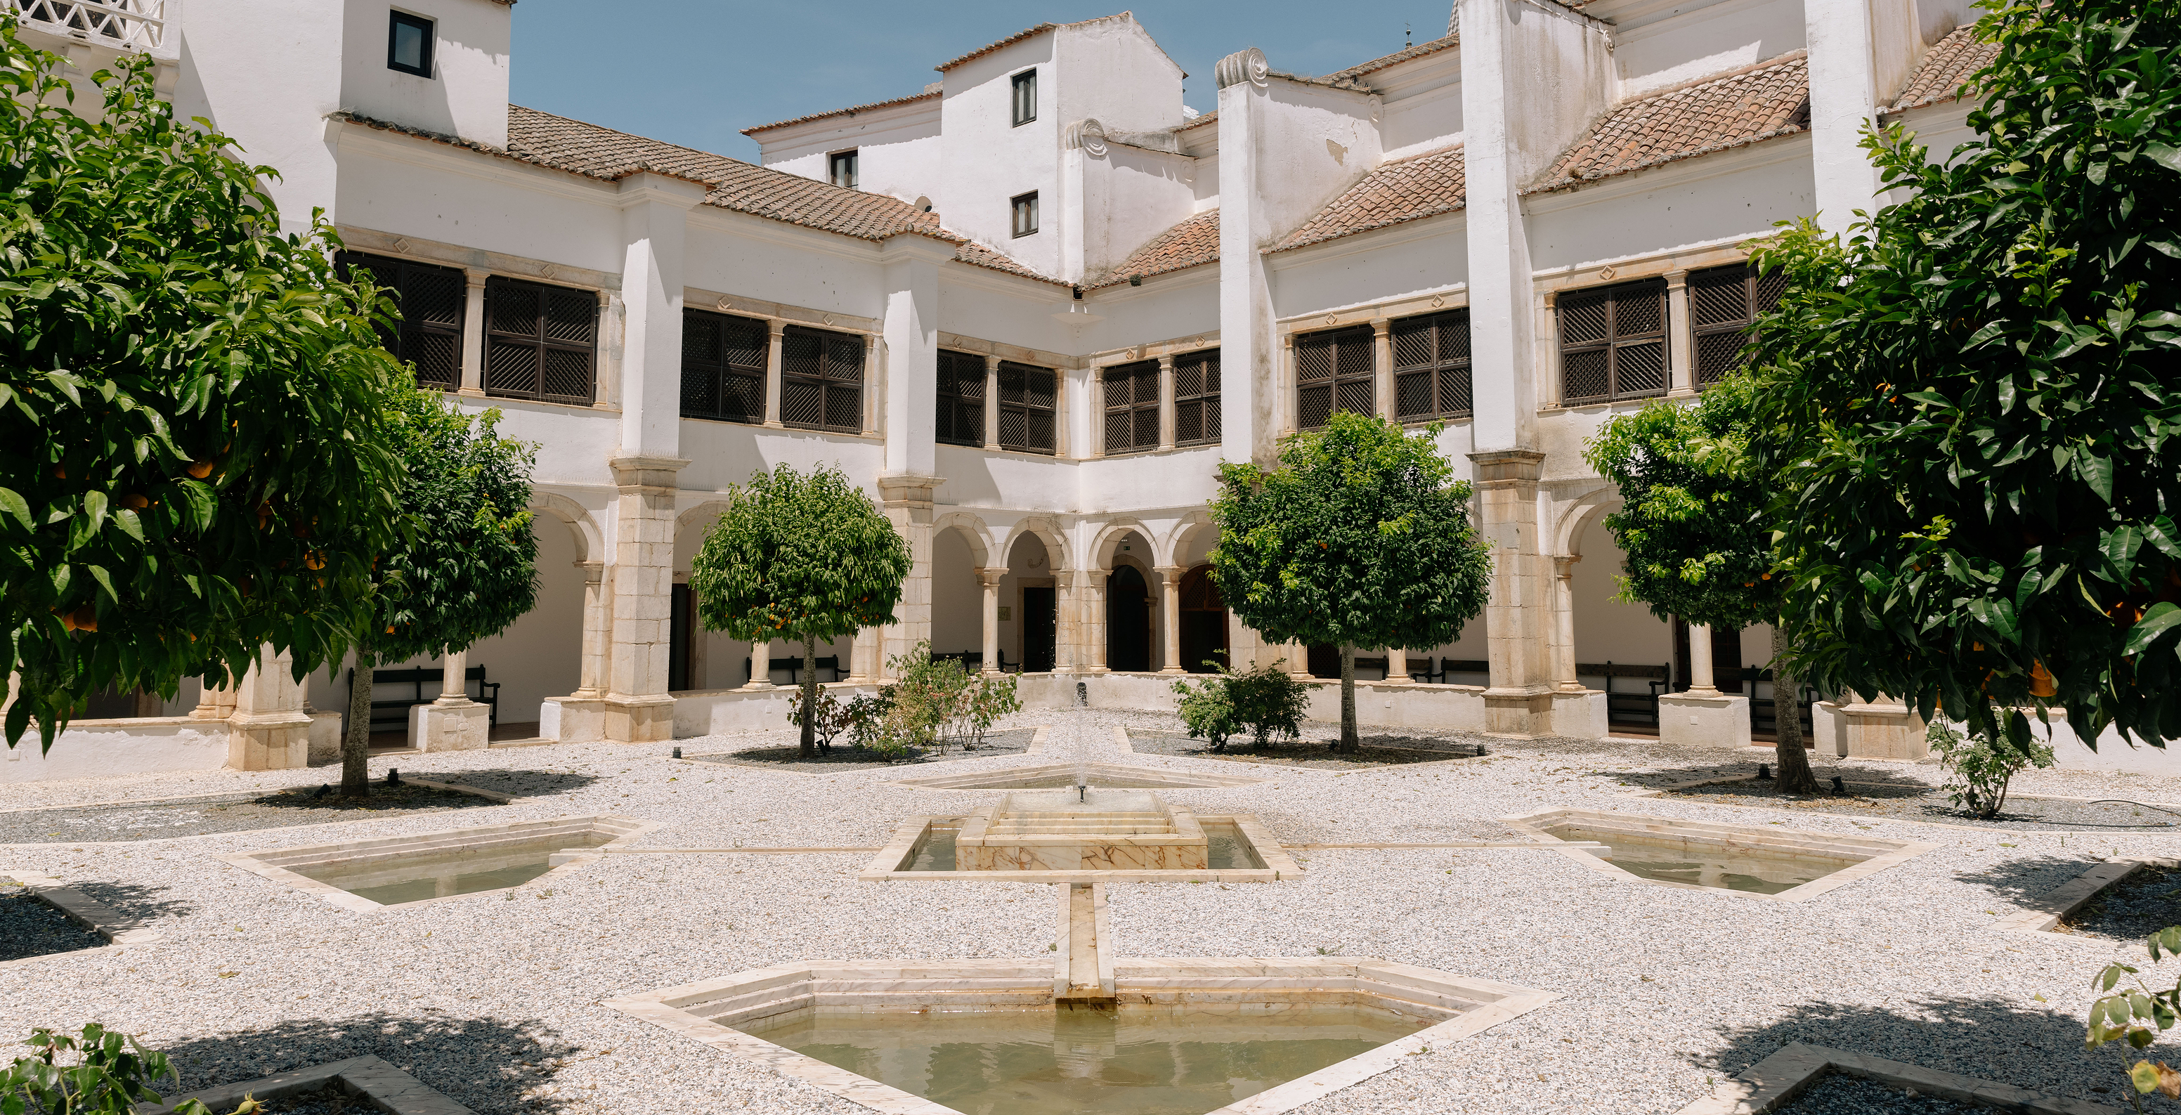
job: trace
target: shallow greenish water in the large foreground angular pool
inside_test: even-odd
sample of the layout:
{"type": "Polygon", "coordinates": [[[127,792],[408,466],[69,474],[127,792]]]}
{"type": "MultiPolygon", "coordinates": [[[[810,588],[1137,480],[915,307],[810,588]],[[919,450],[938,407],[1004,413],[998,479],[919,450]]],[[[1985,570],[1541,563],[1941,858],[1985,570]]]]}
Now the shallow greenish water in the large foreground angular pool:
{"type": "Polygon", "coordinates": [[[1433,1019],[1385,1008],[805,1008],[739,1030],[964,1115],[1202,1115],[1433,1019]]]}

